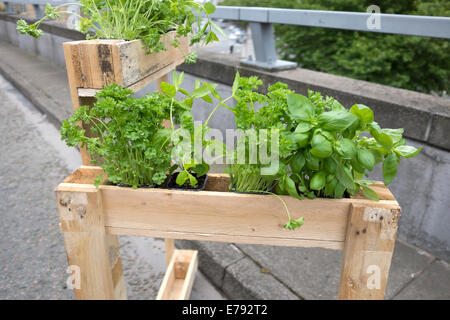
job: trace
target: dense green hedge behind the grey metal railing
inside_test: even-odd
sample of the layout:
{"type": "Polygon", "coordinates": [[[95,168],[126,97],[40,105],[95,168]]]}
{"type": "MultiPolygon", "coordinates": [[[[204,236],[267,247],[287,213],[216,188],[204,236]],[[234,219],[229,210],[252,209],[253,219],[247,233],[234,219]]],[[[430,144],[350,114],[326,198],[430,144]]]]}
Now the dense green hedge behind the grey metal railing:
{"type": "MultiPolygon", "coordinates": [[[[225,0],[220,5],[450,16],[450,1],[225,0]]],[[[383,23],[381,21],[381,23],[383,23]]],[[[450,41],[288,25],[275,26],[281,58],[312,70],[422,92],[449,91],[450,41]]]]}

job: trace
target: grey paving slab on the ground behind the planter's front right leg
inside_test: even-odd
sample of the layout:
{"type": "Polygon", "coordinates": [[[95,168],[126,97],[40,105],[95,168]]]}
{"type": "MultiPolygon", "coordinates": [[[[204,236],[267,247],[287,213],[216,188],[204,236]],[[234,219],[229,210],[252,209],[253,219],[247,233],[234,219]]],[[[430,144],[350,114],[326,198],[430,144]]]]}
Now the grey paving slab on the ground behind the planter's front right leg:
{"type": "MultiPolygon", "coordinates": [[[[270,270],[299,296],[305,299],[337,298],[342,251],[255,245],[238,245],[238,247],[270,270]]],[[[393,298],[433,260],[434,258],[423,250],[397,241],[386,299],[393,298]]],[[[448,289],[450,290],[450,287],[448,289]]]]}

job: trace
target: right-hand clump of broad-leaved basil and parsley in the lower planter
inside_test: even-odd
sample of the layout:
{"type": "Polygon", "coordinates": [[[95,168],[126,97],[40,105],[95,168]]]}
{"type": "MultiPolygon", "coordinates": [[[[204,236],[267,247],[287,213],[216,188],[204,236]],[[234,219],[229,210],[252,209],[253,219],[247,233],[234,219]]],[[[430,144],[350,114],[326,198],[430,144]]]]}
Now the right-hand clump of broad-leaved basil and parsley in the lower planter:
{"type": "MultiPolygon", "coordinates": [[[[341,198],[362,190],[367,198],[378,200],[369,187],[371,182],[362,178],[383,162],[384,182],[388,185],[395,178],[400,159],[420,152],[405,145],[403,129],[382,129],[367,106],[355,104],[348,110],[332,97],[313,91],[308,91],[308,96],[299,95],[282,83],[262,94],[258,92],[260,85],[256,77],[237,74],[232,111],[239,129],[279,130],[279,170],[262,174],[267,165],[259,157],[255,163],[247,157],[244,164],[231,164],[228,172],[236,191],[271,193],[276,185],[279,195],[312,199],[341,198]]],[[[245,144],[241,145],[246,155],[250,145],[260,146],[262,142],[249,135],[244,138],[245,144]]],[[[286,211],[289,215],[287,207],[286,211]]],[[[285,225],[288,229],[301,225],[290,215],[289,221],[285,225]]]]}

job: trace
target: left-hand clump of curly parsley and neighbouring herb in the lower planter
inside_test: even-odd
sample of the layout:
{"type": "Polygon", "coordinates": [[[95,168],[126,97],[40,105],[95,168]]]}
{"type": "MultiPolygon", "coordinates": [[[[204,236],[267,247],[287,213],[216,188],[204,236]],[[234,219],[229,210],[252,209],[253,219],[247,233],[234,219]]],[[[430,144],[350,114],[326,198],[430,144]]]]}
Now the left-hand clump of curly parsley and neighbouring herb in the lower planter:
{"type": "MultiPolygon", "coordinates": [[[[82,106],[63,121],[62,139],[69,146],[86,146],[93,164],[101,165],[111,183],[133,188],[161,185],[179,168],[177,184],[189,180],[196,187],[193,173],[201,177],[208,173],[209,165],[203,161],[203,153],[194,158],[194,141],[200,138],[205,149],[215,145],[215,150],[218,142],[206,138],[207,124],[194,127],[190,111],[195,99],[206,99],[217,92],[215,86],[205,83],[189,94],[181,88],[183,78],[183,73],[174,73],[173,84],[162,83],[163,93],[140,99],[116,84],[104,88],[97,93],[93,107],[82,106]],[[178,92],[186,98],[175,98],[178,92]],[[170,128],[163,126],[165,119],[170,119],[170,128]],[[90,127],[89,133],[79,126],[80,122],[90,127]],[[187,145],[183,141],[186,135],[187,145]],[[175,164],[171,166],[172,162],[175,164]]],[[[96,184],[102,181],[99,177],[96,184]]]]}

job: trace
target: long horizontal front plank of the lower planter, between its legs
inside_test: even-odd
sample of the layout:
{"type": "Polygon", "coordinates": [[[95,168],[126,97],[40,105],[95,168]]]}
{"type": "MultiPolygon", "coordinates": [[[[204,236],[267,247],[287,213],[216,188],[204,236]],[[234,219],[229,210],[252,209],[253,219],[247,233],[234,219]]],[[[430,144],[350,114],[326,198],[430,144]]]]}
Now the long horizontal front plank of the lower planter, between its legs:
{"type": "MultiPolygon", "coordinates": [[[[76,182],[92,183],[95,176],[92,171],[80,169],[58,189],[93,187],[76,182]]],[[[116,235],[342,249],[351,204],[399,208],[393,200],[297,200],[282,196],[293,218],[305,218],[300,229],[291,231],[283,228],[287,215],[278,198],[211,191],[215,186],[224,189],[229,182],[226,176],[215,174],[210,174],[208,180],[208,191],[200,192],[101,185],[106,231],[116,235]]]]}

